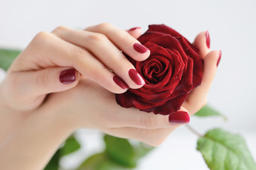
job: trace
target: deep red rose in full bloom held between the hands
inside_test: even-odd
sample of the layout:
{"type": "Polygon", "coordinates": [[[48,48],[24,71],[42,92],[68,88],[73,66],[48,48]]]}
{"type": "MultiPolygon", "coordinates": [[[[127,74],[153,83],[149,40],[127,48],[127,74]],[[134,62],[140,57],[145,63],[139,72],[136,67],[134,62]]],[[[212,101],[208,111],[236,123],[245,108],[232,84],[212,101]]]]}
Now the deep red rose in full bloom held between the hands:
{"type": "Polygon", "coordinates": [[[116,94],[124,108],[169,115],[181,108],[188,94],[201,84],[203,59],[186,38],[165,25],[151,25],[138,38],[151,54],[137,62],[127,58],[142,75],[146,84],[140,89],[128,89],[116,94]]]}

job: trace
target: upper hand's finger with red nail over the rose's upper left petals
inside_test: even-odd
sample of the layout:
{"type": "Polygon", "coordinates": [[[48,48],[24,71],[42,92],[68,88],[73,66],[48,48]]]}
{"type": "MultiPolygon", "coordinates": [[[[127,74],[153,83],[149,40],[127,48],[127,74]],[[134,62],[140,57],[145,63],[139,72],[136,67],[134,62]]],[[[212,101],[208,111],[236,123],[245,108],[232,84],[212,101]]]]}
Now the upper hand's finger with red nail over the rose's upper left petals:
{"type": "Polygon", "coordinates": [[[125,30],[112,26],[110,23],[101,23],[97,26],[90,26],[85,30],[106,35],[114,45],[134,60],[143,61],[150,55],[150,51],[136,38],[133,38],[125,30]]]}

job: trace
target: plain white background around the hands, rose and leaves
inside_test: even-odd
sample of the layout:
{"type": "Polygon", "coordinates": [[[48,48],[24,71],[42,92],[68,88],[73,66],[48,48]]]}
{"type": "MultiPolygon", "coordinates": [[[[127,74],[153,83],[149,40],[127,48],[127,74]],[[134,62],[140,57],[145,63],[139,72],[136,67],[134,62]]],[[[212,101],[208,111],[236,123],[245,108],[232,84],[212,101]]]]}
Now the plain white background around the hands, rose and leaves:
{"type": "MultiPolygon", "coordinates": [[[[256,1],[149,1],[149,0],[77,0],[11,1],[0,0],[0,47],[24,48],[36,33],[57,26],[85,28],[109,22],[123,29],[151,23],[165,23],[188,40],[210,31],[211,49],[222,50],[218,73],[208,103],[228,117],[192,118],[191,125],[202,134],[210,128],[240,132],[256,159],[256,1]]],[[[74,167],[81,155],[102,148],[99,132],[85,130],[82,152],[65,159],[74,167]],[[89,146],[89,147],[88,147],[89,146]]],[[[196,151],[196,136],[179,128],[140,164],[138,169],[207,169],[196,151]]]]}

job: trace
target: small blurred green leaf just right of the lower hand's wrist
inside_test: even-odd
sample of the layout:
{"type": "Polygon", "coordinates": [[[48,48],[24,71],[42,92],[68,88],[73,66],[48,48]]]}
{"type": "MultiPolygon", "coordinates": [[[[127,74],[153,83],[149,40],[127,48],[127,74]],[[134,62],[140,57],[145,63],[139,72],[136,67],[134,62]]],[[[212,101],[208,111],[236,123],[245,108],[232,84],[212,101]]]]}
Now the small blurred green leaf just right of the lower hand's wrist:
{"type": "Polygon", "coordinates": [[[60,157],[75,152],[78,149],[80,149],[80,144],[75,137],[71,135],[67,140],[65,140],[65,145],[60,148],[60,157]]]}

